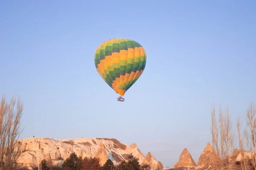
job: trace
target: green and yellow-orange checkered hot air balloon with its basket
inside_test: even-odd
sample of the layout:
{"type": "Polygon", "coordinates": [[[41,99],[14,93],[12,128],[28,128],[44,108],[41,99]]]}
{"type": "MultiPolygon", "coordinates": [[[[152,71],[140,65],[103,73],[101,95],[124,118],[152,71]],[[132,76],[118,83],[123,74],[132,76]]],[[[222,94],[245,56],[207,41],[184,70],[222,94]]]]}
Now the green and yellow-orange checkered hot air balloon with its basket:
{"type": "Polygon", "coordinates": [[[139,79],[146,65],[144,48],[136,41],[114,38],[102,42],[94,54],[99,75],[124,102],[125,92],[139,79]]]}

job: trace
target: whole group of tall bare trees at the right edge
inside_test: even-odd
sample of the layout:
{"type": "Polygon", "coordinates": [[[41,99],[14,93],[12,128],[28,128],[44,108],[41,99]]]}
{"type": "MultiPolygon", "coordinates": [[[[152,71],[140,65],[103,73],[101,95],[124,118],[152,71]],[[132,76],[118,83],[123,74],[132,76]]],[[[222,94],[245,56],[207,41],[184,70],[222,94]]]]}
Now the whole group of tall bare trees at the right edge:
{"type": "Polygon", "coordinates": [[[256,106],[250,102],[246,117],[246,126],[242,130],[240,117],[236,119],[235,128],[232,125],[228,107],[222,111],[221,105],[218,108],[216,118],[215,105],[211,109],[211,133],[212,147],[217,156],[214,161],[216,169],[233,169],[234,166],[242,170],[256,170],[256,106]],[[237,146],[238,145],[238,146],[237,146]],[[244,150],[248,148],[248,152],[244,150]],[[236,160],[237,155],[232,155],[235,148],[239,148],[241,161],[236,160]]]}

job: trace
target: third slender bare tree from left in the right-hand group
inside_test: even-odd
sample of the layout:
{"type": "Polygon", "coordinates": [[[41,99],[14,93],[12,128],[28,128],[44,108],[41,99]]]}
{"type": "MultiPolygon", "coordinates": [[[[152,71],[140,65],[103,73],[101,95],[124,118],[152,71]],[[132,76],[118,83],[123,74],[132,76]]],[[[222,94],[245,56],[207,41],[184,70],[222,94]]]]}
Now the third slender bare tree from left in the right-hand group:
{"type": "Polygon", "coordinates": [[[232,123],[231,123],[231,118],[230,118],[230,114],[228,111],[228,107],[226,110],[226,113],[224,115],[224,134],[225,134],[225,138],[224,138],[224,144],[227,150],[227,155],[228,155],[228,165],[229,165],[229,169],[231,169],[231,153],[234,150],[234,133],[232,130],[232,123]]]}

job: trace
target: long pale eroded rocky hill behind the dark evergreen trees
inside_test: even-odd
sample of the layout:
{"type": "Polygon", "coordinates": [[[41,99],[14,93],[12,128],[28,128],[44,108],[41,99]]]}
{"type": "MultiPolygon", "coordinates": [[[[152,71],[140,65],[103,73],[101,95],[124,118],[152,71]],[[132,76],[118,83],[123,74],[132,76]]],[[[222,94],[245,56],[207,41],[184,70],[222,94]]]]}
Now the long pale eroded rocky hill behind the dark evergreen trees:
{"type": "Polygon", "coordinates": [[[128,160],[131,154],[137,158],[140,164],[149,164],[152,168],[160,170],[163,165],[150,153],[145,157],[136,144],[122,144],[116,139],[109,138],[80,138],[54,140],[52,138],[27,138],[18,140],[22,153],[18,159],[21,164],[30,167],[38,165],[43,159],[52,164],[62,164],[71,153],[76,153],[82,158],[88,156],[101,159],[103,165],[109,158],[114,164],[119,161],[128,160]]]}

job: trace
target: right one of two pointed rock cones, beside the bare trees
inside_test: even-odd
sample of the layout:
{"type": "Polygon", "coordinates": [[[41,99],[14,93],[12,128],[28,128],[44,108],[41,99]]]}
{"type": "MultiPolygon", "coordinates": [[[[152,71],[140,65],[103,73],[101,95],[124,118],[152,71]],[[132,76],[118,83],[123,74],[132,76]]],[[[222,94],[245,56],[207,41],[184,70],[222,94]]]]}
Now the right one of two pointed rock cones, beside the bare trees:
{"type": "Polygon", "coordinates": [[[217,153],[212,149],[210,142],[208,142],[198,159],[198,166],[210,165],[216,159],[218,159],[217,153]]]}

